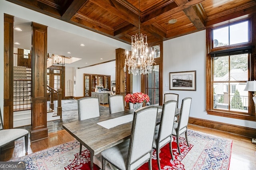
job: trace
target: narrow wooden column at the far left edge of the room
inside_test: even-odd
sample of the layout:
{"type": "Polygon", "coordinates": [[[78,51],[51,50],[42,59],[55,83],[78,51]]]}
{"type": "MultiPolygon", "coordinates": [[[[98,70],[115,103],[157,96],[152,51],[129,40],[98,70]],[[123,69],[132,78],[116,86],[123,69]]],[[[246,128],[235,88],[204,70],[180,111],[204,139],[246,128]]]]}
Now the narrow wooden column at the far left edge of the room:
{"type": "Polygon", "coordinates": [[[4,129],[13,128],[13,22],[4,14],[4,129]]]}

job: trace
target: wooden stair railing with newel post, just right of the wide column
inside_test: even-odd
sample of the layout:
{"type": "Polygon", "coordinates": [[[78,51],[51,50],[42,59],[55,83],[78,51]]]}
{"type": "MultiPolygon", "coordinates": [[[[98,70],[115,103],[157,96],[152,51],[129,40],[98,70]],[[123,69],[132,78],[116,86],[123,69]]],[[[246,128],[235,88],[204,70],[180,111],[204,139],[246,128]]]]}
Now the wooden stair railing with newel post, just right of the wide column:
{"type": "Polygon", "coordinates": [[[62,106],[61,106],[61,100],[62,100],[62,89],[59,88],[58,90],[55,90],[54,88],[47,85],[47,91],[49,94],[49,98],[47,99],[47,112],[54,112],[52,116],[60,116],[60,119],[62,118],[62,106]],[[56,99],[57,95],[57,101],[56,99]],[[55,109],[56,108],[56,109],[55,109]]]}

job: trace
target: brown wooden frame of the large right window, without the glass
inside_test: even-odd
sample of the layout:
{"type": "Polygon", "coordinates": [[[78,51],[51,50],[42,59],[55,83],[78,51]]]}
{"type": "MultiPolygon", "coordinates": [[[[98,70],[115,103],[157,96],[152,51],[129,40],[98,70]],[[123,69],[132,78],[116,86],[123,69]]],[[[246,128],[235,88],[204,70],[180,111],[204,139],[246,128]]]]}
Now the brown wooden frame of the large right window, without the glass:
{"type": "MultiPolygon", "coordinates": [[[[249,77],[248,80],[256,80],[256,30],[252,29],[256,26],[256,16],[252,16],[250,18],[246,18],[248,20],[248,41],[246,43],[239,43],[235,45],[227,45],[222,47],[213,47],[213,37],[212,30],[217,27],[207,28],[206,29],[206,112],[209,115],[217,115],[222,117],[230,117],[235,119],[243,119],[256,121],[255,117],[255,107],[254,102],[252,100],[252,92],[248,92],[248,115],[241,114],[240,112],[234,111],[226,111],[226,110],[218,110],[214,109],[214,89],[213,89],[213,68],[212,68],[212,58],[210,53],[218,53],[219,51],[225,51],[229,49],[240,49],[246,47],[252,47],[251,57],[248,61],[248,72],[249,77]]],[[[233,25],[234,23],[242,22],[245,20],[236,21],[233,23],[229,23],[226,25],[221,25],[218,27],[223,27],[227,25],[233,25]]]]}

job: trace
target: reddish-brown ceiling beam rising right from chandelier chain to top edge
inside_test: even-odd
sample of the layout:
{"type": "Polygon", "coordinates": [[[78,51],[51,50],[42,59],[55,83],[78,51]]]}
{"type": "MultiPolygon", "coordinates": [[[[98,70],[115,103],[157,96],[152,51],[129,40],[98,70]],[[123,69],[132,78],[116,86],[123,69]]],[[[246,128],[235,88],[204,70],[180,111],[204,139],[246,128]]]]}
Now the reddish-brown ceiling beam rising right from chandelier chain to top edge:
{"type": "Polygon", "coordinates": [[[166,11],[166,12],[163,12],[162,14],[159,14],[158,16],[157,15],[154,15],[154,11],[152,12],[152,14],[150,14],[151,16],[145,16],[145,18],[143,18],[142,20],[142,23],[144,25],[149,25],[153,22],[156,22],[158,20],[162,20],[163,18],[165,18],[166,16],[170,16],[172,14],[175,14],[177,12],[180,12],[186,8],[189,8],[191,6],[194,6],[196,4],[199,4],[201,2],[203,2],[204,0],[190,0],[189,2],[186,2],[184,4],[181,4],[180,6],[176,7],[176,8],[173,8],[169,11],[166,11]]]}

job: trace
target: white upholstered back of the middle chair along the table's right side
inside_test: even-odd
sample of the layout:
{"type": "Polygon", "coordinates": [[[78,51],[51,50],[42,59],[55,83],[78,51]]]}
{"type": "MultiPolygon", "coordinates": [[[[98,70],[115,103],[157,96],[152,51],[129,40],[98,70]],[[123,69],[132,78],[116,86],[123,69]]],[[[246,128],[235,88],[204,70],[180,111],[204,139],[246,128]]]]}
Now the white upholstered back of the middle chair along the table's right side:
{"type": "Polygon", "coordinates": [[[170,138],[170,136],[172,135],[176,104],[177,104],[177,101],[175,100],[168,100],[163,104],[162,116],[160,121],[161,123],[159,126],[158,138],[157,138],[158,143],[160,143],[160,146],[165,145],[166,143],[161,144],[161,142],[168,137],[170,138]]]}

